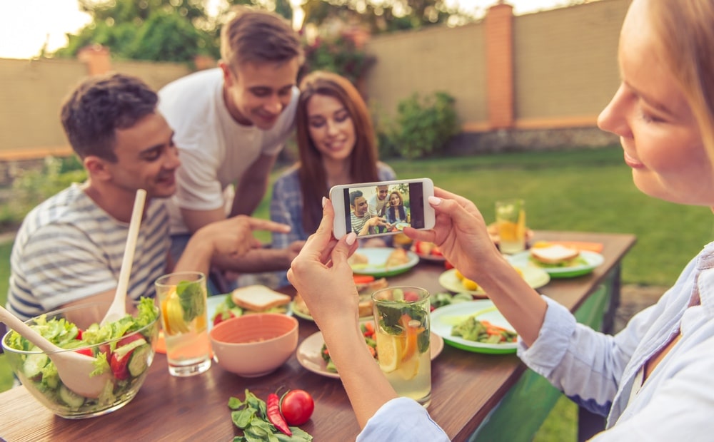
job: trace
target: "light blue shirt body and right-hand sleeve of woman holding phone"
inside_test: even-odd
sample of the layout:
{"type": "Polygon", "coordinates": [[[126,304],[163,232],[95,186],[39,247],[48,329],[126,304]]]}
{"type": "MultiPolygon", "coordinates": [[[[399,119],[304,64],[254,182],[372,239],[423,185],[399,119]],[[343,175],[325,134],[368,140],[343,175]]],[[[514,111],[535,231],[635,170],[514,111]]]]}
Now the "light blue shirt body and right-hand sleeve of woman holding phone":
{"type": "Polygon", "coordinates": [[[615,336],[577,324],[548,302],[538,339],[518,356],[577,404],[608,416],[595,440],[714,438],[714,243],[685,267],[657,304],[615,336]],[[700,298],[700,305],[690,301],[700,298]],[[630,400],[640,368],[673,337],[681,339],[630,400]]]}

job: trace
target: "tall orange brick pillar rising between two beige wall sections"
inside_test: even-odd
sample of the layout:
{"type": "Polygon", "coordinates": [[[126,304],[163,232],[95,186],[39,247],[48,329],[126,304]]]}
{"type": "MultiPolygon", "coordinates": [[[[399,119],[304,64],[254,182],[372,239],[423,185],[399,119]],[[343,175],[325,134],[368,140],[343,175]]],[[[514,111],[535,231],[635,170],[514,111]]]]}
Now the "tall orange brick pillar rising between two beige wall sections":
{"type": "Polygon", "coordinates": [[[513,127],[513,6],[488,9],[486,20],[486,103],[492,129],[513,127]]]}

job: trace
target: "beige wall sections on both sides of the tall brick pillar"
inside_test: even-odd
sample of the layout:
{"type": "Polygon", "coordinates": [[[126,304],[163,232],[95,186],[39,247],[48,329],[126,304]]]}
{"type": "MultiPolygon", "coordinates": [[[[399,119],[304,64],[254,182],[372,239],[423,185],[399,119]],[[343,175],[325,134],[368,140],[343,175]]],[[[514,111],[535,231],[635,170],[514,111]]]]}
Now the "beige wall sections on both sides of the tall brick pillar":
{"type": "MultiPolygon", "coordinates": [[[[618,86],[617,41],[629,0],[513,18],[516,128],[595,125],[618,86]]],[[[414,91],[456,98],[463,129],[488,130],[483,23],[377,36],[367,91],[388,115],[414,91]]],[[[493,81],[498,81],[494,79],[493,81]]]]}

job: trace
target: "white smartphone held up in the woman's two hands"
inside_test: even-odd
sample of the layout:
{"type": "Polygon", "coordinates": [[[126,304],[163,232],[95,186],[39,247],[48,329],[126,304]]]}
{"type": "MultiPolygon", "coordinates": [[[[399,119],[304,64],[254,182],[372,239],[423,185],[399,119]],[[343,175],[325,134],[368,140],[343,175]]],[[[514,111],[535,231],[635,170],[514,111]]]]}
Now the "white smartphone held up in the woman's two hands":
{"type": "Polygon", "coordinates": [[[358,237],[395,235],[404,227],[431,229],[436,215],[428,197],[434,195],[429,178],[336,185],[330,189],[335,208],[333,233],[358,237]]]}

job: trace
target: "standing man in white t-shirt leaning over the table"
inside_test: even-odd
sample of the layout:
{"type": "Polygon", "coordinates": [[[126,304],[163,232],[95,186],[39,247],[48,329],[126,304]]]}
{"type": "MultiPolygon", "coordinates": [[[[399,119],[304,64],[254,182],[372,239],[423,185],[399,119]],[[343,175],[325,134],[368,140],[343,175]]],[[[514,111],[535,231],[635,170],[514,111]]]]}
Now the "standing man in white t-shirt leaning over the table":
{"type": "MultiPolygon", "coordinates": [[[[261,202],[293,128],[302,61],[301,42],[290,24],[270,12],[243,9],[221,30],[218,68],[159,91],[159,110],[174,128],[182,163],[169,207],[172,255],[203,225],[251,215],[261,202]]],[[[287,269],[302,244],[256,248],[214,264],[239,272],[287,269]]]]}

